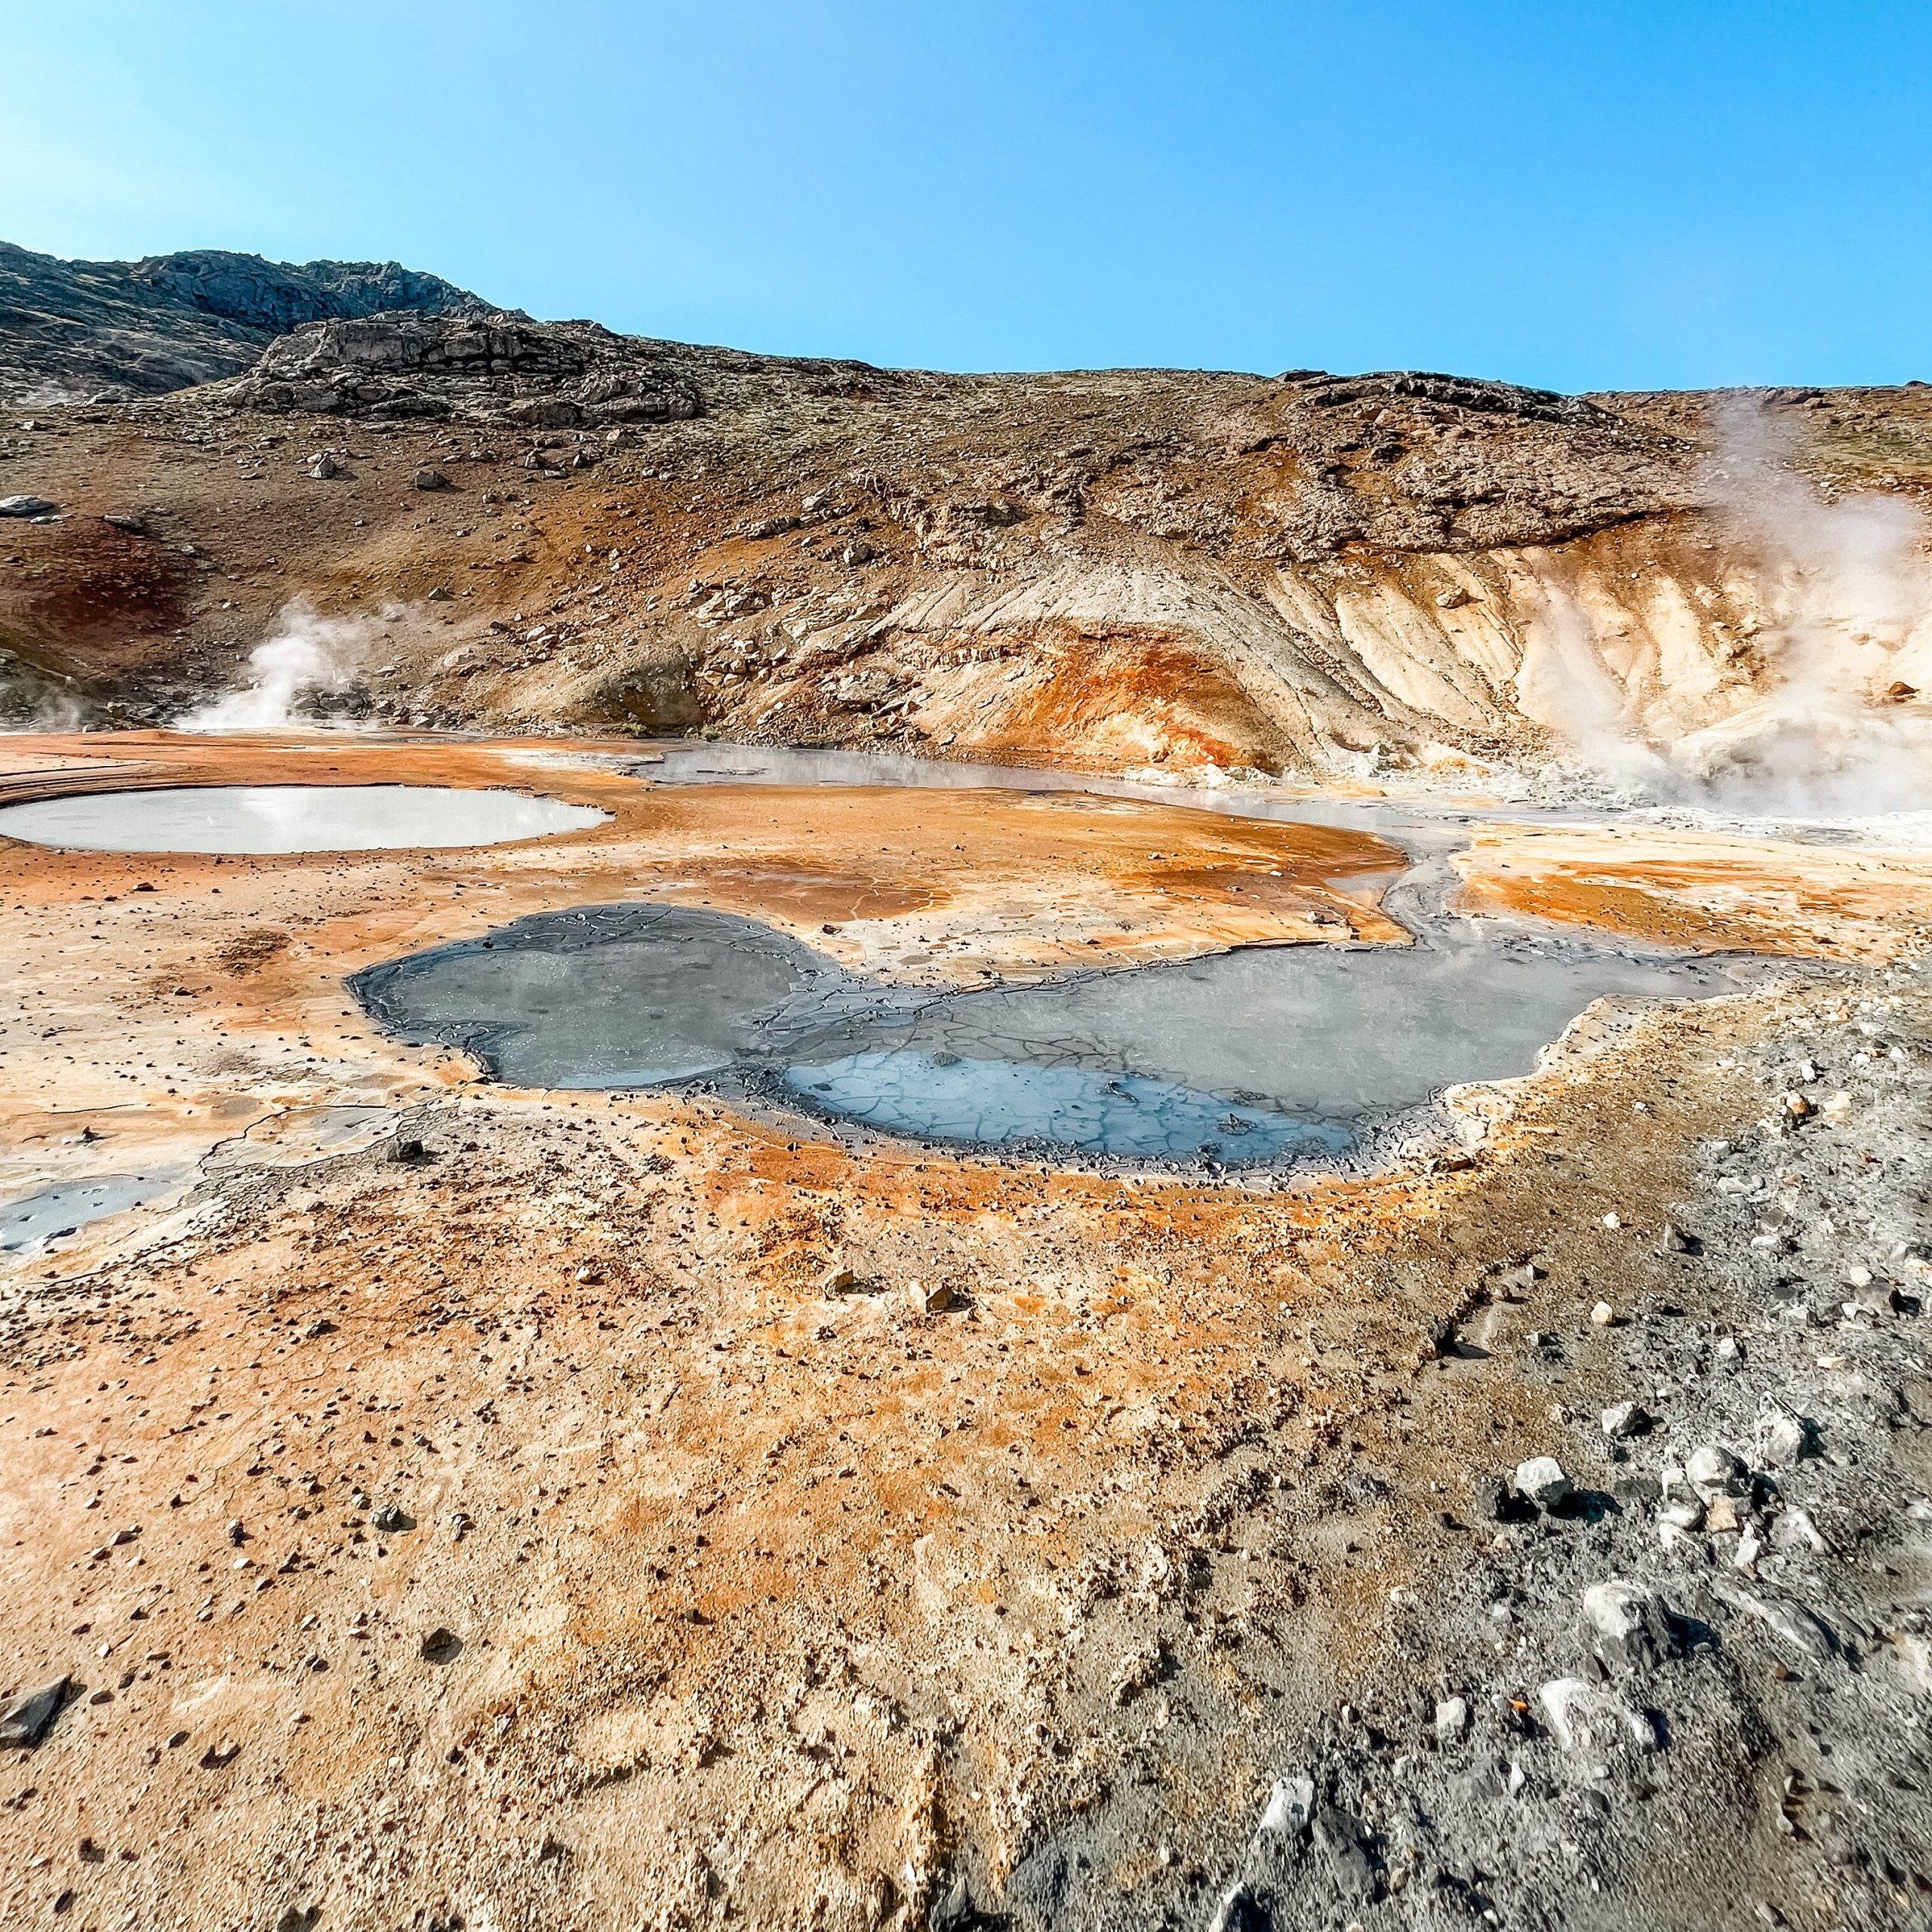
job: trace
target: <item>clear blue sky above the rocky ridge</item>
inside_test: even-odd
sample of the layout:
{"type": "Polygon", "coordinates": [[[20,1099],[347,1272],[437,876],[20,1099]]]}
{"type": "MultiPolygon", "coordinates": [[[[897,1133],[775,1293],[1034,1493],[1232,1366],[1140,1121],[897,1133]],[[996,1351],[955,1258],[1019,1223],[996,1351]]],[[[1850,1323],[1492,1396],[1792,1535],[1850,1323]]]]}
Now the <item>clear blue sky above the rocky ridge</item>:
{"type": "Polygon", "coordinates": [[[46,0],[0,238],[951,369],[1932,379],[1932,6],[46,0]]]}

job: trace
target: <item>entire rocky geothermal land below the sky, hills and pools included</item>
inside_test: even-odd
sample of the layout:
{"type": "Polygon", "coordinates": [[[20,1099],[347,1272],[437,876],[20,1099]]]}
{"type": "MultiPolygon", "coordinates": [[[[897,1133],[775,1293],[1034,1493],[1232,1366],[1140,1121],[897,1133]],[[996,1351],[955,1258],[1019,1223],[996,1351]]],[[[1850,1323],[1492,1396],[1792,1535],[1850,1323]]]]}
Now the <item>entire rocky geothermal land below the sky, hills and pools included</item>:
{"type": "Polygon", "coordinates": [[[232,261],[0,251],[0,1922],[1926,1922],[1932,392],[232,261]]]}

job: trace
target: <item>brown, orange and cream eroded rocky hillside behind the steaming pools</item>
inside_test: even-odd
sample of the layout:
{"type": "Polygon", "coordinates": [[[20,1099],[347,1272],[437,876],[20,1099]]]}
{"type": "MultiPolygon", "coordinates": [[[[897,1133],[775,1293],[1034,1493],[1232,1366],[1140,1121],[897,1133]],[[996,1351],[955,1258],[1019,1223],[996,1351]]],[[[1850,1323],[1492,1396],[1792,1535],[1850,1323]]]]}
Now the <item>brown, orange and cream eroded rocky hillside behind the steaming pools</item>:
{"type": "MultiPolygon", "coordinates": [[[[327,321],[15,419],[15,686],[153,719],[292,599],[328,701],[1142,773],[1922,763],[1932,392],[941,377],[527,317],[327,321]]],[[[15,703],[15,709],[21,709],[15,703]]],[[[1888,781],[1889,782],[1889,781],[1888,781]]]]}

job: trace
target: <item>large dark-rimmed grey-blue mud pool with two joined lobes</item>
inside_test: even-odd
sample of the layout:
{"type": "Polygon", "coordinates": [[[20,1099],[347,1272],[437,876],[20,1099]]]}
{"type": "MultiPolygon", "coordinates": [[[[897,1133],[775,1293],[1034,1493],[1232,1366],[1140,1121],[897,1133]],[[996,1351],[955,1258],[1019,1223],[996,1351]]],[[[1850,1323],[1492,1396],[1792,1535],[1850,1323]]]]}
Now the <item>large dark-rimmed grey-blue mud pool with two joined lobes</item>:
{"type": "Polygon", "coordinates": [[[1345,1155],[1445,1086],[1530,1072],[1604,995],[1739,980],[1482,933],[935,993],[856,978],[755,920],[624,904],[539,914],[350,983],[392,1032],[516,1086],[705,1080],[914,1140],[1235,1167],[1345,1155]]]}

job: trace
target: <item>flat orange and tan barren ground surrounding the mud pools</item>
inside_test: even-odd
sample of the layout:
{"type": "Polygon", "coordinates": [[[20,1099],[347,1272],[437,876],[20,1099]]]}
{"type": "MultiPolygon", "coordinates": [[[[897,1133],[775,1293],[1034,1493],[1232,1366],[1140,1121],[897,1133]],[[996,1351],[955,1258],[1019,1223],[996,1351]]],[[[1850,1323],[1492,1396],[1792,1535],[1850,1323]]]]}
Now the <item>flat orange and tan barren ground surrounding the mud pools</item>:
{"type": "Polygon", "coordinates": [[[1905,858],[1669,835],[1633,900],[1548,887],[1596,883],[1580,833],[1482,835],[1486,895],[1526,844],[1565,918],[1787,952],[1799,906],[1845,978],[1596,1010],[1464,1099],[1472,1153],[1258,1190],[500,1090],[340,981],[643,893],[958,980],[1397,939],[1378,840],[514,746],[6,753],[10,800],[299,769],[611,813],[448,854],[0,846],[8,1192],[180,1167],[12,1265],[0,1675],[73,1689],[0,1793],[10,1922],[1922,1915],[1926,1022],[1866,964],[1918,937],[1905,858]],[[1706,1437],[1770,1488],[1660,1542],[1706,1437]],[[1582,1501],[1495,1520],[1478,1480],[1549,1453],[1582,1501]],[[1565,1741],[1544,1687],[1611,1575],[1673,1621],[1565,1741]],[[1258,1832],[1298,1776],[1312,1835],[1258,1832]]]}

